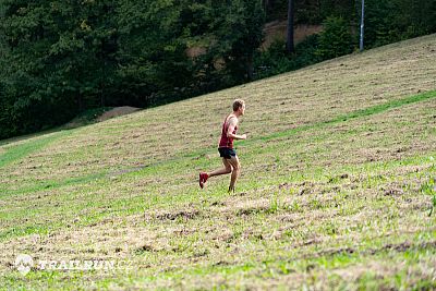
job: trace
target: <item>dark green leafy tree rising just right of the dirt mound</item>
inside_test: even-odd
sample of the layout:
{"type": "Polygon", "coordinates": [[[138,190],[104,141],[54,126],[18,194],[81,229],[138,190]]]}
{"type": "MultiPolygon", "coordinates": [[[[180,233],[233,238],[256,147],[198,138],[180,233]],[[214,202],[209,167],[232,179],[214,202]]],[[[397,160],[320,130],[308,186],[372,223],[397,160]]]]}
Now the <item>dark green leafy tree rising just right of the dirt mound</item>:
{"type": "Polygon", "coordinates": [[[182,19],[187,7],[189,1],[120,2],[117,104],[147,107],[183,95],[178,89],[192,78],[185,53],[191,33],[182,19]]]}

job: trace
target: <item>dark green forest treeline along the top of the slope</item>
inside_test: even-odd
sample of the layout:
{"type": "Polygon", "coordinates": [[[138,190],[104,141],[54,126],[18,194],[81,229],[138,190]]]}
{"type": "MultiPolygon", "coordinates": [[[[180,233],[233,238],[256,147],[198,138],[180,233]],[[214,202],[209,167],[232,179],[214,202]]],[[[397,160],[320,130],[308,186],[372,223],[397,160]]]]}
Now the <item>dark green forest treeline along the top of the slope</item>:
{"type": "MultiPolygon", "coordinates": [[[[295,70],[359,47],[361,1],[294,0],[322,24],[261,50],[288,0],[0,0],[0,138],[93,108],[150,107],[295,70]]],[[[436,32],[434,0],[366,0],[365,49],[436,32]]]]}

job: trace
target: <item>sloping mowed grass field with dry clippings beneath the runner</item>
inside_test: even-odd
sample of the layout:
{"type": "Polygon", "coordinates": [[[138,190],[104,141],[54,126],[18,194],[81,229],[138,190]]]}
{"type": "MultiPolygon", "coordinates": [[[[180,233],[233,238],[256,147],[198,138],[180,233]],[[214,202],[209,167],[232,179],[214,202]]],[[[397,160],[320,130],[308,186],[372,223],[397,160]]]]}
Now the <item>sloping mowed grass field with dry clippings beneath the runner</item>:
{"type": "Polygon", "coordinates": [[[436,35],[0,142],[0,289],[436,289],[436,35]],[[229,175],[217,143],[246,101],[229,175]],[[34,260],[125,268],[41,270],[34,260]]]}

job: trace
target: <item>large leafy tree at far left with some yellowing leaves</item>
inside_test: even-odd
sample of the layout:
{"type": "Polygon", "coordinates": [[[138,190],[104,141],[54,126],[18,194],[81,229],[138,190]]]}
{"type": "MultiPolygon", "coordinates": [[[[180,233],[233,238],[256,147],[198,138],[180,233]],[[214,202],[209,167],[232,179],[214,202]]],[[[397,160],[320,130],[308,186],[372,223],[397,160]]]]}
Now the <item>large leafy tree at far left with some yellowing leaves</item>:
{"type": "Polygon", "coordinates": [[[100,106],[114,71],[114,1],[4,0],[2,76],[19,133],[68,121],[100,106]]]}

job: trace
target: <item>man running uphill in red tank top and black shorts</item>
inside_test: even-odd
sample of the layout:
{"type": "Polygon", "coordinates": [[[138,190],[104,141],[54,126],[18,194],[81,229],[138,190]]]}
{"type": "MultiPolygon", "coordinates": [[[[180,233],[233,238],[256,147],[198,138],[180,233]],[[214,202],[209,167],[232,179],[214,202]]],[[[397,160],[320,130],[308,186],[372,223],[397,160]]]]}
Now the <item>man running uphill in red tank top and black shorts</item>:
{"type": "Polygon", "coordinates": [[[210,177],[231,173],[229,192],[234,192],[234,184],[237,183],[238,175],[241,171],[241,163],[239,162],[237,151],[233,148],[233,141],[246,140],[246,134],[237,134],[239,122],[238,119],[243,116],[244,112],[244,100],[234,100],[233,112],[227,116],[225,122],[222,123],[221,138],[218,145],[218,151],[220,157],[222,157],[222,163],[225,167],[210,173],[201,172],[198,183],[202,189],[204,183],[206,183],[207,179],[210,177]]]}

